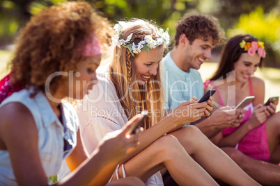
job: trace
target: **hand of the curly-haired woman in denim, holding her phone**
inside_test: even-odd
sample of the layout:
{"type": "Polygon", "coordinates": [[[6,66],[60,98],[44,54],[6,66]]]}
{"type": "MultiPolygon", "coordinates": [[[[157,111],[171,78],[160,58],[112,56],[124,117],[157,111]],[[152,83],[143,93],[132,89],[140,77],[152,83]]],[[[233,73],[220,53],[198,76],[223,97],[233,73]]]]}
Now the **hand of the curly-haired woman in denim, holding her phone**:
{"type": "Polygon", "coordinates": [[[107,133],[100,141],[98,149],[100,153],[107,157],[106,159],[109,162],[120,162],[120,160],[125,157],[128,150],[132,152],[139,145],[138,137],[143,128],[137,128],[134,134],[128,134],[127,131],[140,120],[141,115],[133,117],[121,130],[107,133]]]}

